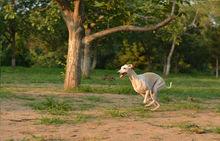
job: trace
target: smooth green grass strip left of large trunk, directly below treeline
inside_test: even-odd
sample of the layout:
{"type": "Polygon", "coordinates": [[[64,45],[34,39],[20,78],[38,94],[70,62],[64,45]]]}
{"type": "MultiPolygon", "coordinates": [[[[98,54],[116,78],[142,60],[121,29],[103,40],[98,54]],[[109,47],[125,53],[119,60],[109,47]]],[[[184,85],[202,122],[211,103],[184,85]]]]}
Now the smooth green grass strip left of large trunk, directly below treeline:
{"type": "Polygon", "coordinates": [[[61,68],[2,67],[2,84],[63,83],[61,68]]]}

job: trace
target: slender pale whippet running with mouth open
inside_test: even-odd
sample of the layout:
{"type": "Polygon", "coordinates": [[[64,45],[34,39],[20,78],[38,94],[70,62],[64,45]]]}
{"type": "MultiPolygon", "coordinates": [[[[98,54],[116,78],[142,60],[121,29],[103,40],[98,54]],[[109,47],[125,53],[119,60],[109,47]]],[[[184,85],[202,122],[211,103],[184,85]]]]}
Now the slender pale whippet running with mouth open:
{"type": "MultiPolygon", "coordinates": [[[[160,89],[166,87],[162,77],[153,72],[137,75],[133,70],[132,64],[123,65],[118,72],[120,73],[120,78],[128,75],[134,90],[144,97],[143,103],[146,104],[146,107],[154,104],[156,107],[152,108],[152,111],[160,107],[157,101],[157,93],[160,89]],[[149,103],[147,104],[147,102],[149,103]]],[[[172,82],[167,88],[171,88],[171,86],[172,82]]]]}

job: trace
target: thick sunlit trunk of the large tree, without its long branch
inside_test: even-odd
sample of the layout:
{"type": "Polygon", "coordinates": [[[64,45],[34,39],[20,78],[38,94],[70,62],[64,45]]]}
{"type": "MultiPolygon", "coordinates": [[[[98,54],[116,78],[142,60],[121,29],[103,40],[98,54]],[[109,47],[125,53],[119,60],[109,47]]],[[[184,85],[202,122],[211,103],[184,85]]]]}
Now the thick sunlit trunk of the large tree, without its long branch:
{"type": "Polygon", "coordinates": [[[64,89],[78,87],[81,79],[81,53],[83,48],[82,38],[85,36],[83,27],[83,7],[81,0],[74,1],[74,12],[64,11],[69,40],[64,89]]]}

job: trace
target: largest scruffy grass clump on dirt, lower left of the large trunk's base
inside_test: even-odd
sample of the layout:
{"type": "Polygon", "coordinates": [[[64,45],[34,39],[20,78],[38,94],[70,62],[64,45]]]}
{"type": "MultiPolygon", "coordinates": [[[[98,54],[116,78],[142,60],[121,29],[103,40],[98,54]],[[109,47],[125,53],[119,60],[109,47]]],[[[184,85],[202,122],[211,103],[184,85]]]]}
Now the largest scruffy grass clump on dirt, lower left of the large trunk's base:
{"type": "Polygon", "coordinates": [[[29,104],[34,110],[47,111],[53,115],[65,115],[72,110],[68,101],[47,97],[44,100],[34,101],[29,104]]]}

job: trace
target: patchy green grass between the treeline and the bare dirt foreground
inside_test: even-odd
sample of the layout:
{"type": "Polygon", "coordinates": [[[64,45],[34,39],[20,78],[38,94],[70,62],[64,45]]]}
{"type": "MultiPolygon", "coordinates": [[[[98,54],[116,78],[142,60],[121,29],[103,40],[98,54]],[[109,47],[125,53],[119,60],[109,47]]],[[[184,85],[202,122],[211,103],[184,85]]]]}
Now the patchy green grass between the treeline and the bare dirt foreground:
{"type": "MultiPolygon", "coordinates": [[[[112,105],[109,99],[102,96],[84,96],[81,99],[65,98],[35,98],[27,95],[17,95],[17,92],[26,93],[54,93],[64,92],[63,69],[61,68],[23,68],[23,67],[2,67],[1,68],[0,100],[17,98],[30,101],[30,106],[35,110],[46,111],[50,114],[63,115],[70,111],[86,111],[99,107],[100,105],[112,105]]],[[[113,93],[136,95],[128,78],[119,79],[116,70],[95,70],[90,79],[82,79],[81,86],[69,91],[69,93],[113,93]],[[113,79],[105,79],[106,76],[113,79]]],[[[139,71],[141,73],[141,71],[139,71]]],[[[204,110],[213,109],[220,111],[219,103],[213,107],[206,104],[207,100],[220,98],[220,79],[207,75],[171,75],[166,78],[166,82],[173,82],[171,89],[160,91],[158,98],[163,110],[204,110]]],[[[113,116],[126,116],[121,111],[108,107],[113,116]]],[[[130,111],[129,111],[130,110],[130,111]]],[[[144,113],[145,111],[141,109],[144,113]]],[[[131,109],[127,107],[127,111],[131,109]]],[[[134,111],[132,111],[134,112],[134,111]]],[[[136,111],[136,115],[137,112],[136,111]]],[[[129,115],[129,114],[128,114],[129,115]]],[[[141,114],[140,114],[141,115],[141,114]]],[[[144,116],[144,115],[143,115],[144,116]]],[[[147,116],[147,115],[146,115],[147,116]]]]}

